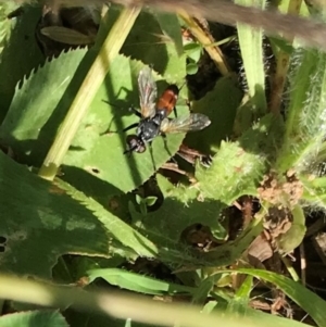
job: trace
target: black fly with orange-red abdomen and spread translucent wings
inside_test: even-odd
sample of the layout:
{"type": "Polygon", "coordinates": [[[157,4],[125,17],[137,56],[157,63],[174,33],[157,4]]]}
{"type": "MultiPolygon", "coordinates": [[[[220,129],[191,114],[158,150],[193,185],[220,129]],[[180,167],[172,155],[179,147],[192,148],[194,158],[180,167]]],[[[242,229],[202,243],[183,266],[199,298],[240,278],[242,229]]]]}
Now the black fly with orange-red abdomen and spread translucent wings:
{"type": "Polygon", "coordinates": [[[124,131],[137,127],[136,135],[127,136],[128,149],[124,152],[142,153],[146,144],[151,144],[152,140],[161,135],[166,147],[166,134],[187,133],[201,130],[211,124],[208,116],[199,113],[191,113],[188,116],[168,118],[172,111],[175,112],[175,104],[178,99],[179,89],[176,85],[170,85],[161,98],[156,101],[158,88],[150,67],[145,67],[138,76],[140,112],[135,108],[130,110],[140,118],[124,129],[124,131]]]}

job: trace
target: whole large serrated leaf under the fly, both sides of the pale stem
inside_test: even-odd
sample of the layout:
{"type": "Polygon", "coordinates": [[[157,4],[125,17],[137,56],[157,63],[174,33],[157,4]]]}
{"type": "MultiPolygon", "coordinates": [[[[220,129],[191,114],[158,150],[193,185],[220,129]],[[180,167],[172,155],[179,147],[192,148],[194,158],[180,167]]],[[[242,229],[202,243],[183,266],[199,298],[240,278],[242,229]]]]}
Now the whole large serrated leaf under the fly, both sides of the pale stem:
{"type": "MultiPolygon", "coordinates": [[[[75,72],[85,51],[79,49],[62,53],[47,62],[17,89],[0,127],[0,138],[25,162],[39,166],[46,156],[78,85],[80,75],[76,77],[75,72]],[[40,105],[43,108],[41,111],[40,105]]],[[[126,109],[139,103],[136,84],[142,66],[140,62],[123,55],[112,62],[110,74],[64,159],[64,179],[92,197],[108,197],[135,189],[170,159],[170,153],[178,150],[184,139],[183,134],[170,135],[168,153],[162,138],[158,137],[153,141],[153,161],[150,151],[134,153],[131,158],[123,154],[126,149],[123,128],[138,121],[126,109]],[[103,100],[113,104],[109,105],[103,100]],[[112,133],[105,134],[108,129],[112,133]]],[[[161,86],[162,83],[159,83],[159,89],[161,86]]],[[[177,111],[178,115],[189,114],[186,105],[177,105],[177,111]]]]}

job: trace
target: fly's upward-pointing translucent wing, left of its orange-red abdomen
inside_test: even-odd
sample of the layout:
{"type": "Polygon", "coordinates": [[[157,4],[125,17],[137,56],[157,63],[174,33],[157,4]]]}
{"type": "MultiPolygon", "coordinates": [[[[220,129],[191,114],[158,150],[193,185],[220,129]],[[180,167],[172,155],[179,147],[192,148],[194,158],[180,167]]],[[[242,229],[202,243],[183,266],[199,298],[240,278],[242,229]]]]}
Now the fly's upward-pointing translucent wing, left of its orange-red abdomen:
{"type": "Polygon", "coordinates": [[[150,67],[143,67],[138,76],[139,100],[141,116],[152,117],[155,114],[155,101],[158,98],[156,83],[150,67]]]}

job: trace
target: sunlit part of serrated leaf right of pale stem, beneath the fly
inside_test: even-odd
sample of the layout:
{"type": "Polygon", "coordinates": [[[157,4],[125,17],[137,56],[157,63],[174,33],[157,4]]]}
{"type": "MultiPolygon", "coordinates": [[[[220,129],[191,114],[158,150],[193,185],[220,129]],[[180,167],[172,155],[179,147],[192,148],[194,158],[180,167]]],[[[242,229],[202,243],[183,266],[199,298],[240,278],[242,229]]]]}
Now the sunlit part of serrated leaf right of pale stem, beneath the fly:
{"type": "MultiPolygon", "coordinates": [[[[176,153],[185,137],[184,134],[167,136],[170,153],[164,147],[163,139],[155,138],[152,143],[153,159],[149,149],[141,154],[133,153],[130,158],[123,154],[126,149],[126,134],[122,130],[139,120],[135,115],[130,115],[126,108],[139,103],[138,88],[135,83],[141,68],[140,62],[125,56],[118,56],[112,62],[110,76],[100,87],[89,109],[89,114],[84,120],[73,142],[73,147],[83,148],[84,151],[72,150],[64,160],[63,171],[66,176],[72,167],[80,167],[91,174],[87,177],[88,180],[100,178],[110,184],[104,189],[103,184],[93,187],[95,191],[102,193],[104,191],[106,196],[118,191],[127,192],[143,184],[156,168],[170,159],[170,153],[176,153]],[[103,103],[103,99],[113,103],[114,106],[103,103]],[[103,135],[108,128],[112,133],[103,135]]],[[[162,89],[161,86],[162,81],[159,81],[159,90],[162,89]]],[[[178,104],[177,113],[179,116],[189,114],[186,105],[178,104]]],[[[130,130],[128,134],[135,134],[135,130],[130,130]]],[[[82,174],[77,174],[76,169],[75,173],[74,176],[67,176],[66,180],[79,189],[85,189],[82,174]]],[[[92,183],[92,185],[95,184],[92,183]]],[[[87,190],[85,189],[85,191],[87,190]]]]}

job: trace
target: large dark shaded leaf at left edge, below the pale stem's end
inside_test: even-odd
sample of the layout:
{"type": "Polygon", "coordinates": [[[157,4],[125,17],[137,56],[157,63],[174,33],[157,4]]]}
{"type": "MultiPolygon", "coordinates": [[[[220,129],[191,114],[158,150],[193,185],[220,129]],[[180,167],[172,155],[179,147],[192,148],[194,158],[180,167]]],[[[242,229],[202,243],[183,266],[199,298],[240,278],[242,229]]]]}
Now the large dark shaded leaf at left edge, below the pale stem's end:
{"type": "Polygon", "coordinates": [[[51,278],[60,255],[109,254],[104,226],[91,212],[1,151],[0,166],[3,272],[51,278]]]}

